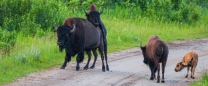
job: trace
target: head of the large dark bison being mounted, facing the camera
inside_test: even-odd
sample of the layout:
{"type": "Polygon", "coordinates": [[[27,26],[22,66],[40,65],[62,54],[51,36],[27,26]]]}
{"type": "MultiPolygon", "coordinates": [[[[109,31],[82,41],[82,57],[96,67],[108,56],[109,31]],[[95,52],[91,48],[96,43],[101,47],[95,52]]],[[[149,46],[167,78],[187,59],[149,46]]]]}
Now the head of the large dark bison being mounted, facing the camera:
{"type": "Polygon", "coordinates": [[[75,25],[73,24],[73,28],[66,25],[59,26],[58,28],[57,26],[54,26],[54,28],[57,31],[57,44],[59,46],[59,50],[63,51],[64,48],[70,47],[73,42],[72,33],[74,33],[76,29],[75,25]]]}

